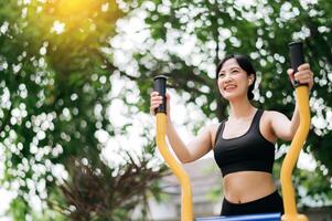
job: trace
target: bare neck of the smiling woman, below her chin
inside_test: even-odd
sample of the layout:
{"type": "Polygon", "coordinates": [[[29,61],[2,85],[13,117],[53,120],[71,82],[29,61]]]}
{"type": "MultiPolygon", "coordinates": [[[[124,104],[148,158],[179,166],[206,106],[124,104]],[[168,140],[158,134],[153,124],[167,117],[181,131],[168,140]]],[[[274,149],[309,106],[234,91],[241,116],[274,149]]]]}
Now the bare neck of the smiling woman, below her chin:
{"type": "Polygon", "coordinates": [[[256,109],[247,98],[231,101],[229,105],[231,105],[229,118],[234,118],[234,119],[247,118],[251,116],[256,109]]]}

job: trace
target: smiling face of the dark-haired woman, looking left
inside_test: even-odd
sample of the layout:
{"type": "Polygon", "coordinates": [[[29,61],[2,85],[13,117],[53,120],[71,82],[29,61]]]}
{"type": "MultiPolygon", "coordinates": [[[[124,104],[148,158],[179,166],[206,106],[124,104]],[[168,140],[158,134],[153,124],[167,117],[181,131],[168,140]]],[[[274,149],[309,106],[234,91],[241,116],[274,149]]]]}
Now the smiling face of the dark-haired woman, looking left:
{"type": "Polygon", "coordinates": [[[247,75],[235,59],[227,60],[218,73],[218,90],[224,98],[232,101],[234,98],[247,97],[247,92],[254,82],[254,75],[247,75]]]}

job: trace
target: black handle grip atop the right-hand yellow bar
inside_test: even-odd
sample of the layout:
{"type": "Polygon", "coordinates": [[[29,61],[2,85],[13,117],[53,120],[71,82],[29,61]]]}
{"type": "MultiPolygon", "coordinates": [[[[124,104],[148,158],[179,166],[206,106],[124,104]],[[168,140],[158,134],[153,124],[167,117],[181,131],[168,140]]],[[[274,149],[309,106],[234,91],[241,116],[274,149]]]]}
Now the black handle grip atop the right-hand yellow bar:
{"type": "MultiPolygon", "coordinates": [[[[302,42],[291,42],[289,44],[289,51],[290,51],[291,69],[294,71],[293,73],[297,73],[298,67],[304,63],[302,42]]],[[[299,85],[307,85],[307,84],[299,84],[299,82],[294,81],[294,86],[297,87],[299,85]]]]}

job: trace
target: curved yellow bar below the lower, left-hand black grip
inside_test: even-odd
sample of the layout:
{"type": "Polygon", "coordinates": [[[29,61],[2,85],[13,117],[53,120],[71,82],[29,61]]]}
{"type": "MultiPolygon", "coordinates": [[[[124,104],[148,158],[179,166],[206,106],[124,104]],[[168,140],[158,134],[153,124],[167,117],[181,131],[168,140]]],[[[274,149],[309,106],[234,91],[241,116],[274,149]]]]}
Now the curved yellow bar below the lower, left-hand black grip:
{"type": "Polygon", "coordinates": [[[165,128],[167,128],[167,115],[164,113],[157,114],[157,146],[171,168],[172,172],[176,176],[181,185],[181,221],[193,221],[193,202],[192,202],[192,189],[190,185],[190,178],[180,162],[173,157],[165,144],[165,128]]]}

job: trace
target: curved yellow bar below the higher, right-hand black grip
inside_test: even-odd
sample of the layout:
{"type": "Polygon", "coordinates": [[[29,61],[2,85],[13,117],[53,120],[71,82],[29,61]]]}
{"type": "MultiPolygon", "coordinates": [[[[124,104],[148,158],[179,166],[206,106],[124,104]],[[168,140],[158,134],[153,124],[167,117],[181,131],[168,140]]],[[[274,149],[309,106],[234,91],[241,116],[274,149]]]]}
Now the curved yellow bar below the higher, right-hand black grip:
{"type": "Polygon", "coordinates": [[[301,85],[296,88],[299,110],[300,125],[292,139],[290,149],[281,167],[281,187],[285,214],[281,217],[282,221],[308,221],[303,214],[297,211],[294,190],[291,182],[291,173],[299,158],[301,148],[303,147],[309,129],[310,129],[310,107],[309,107],[309,90],[308,86],[301,85]]]}

